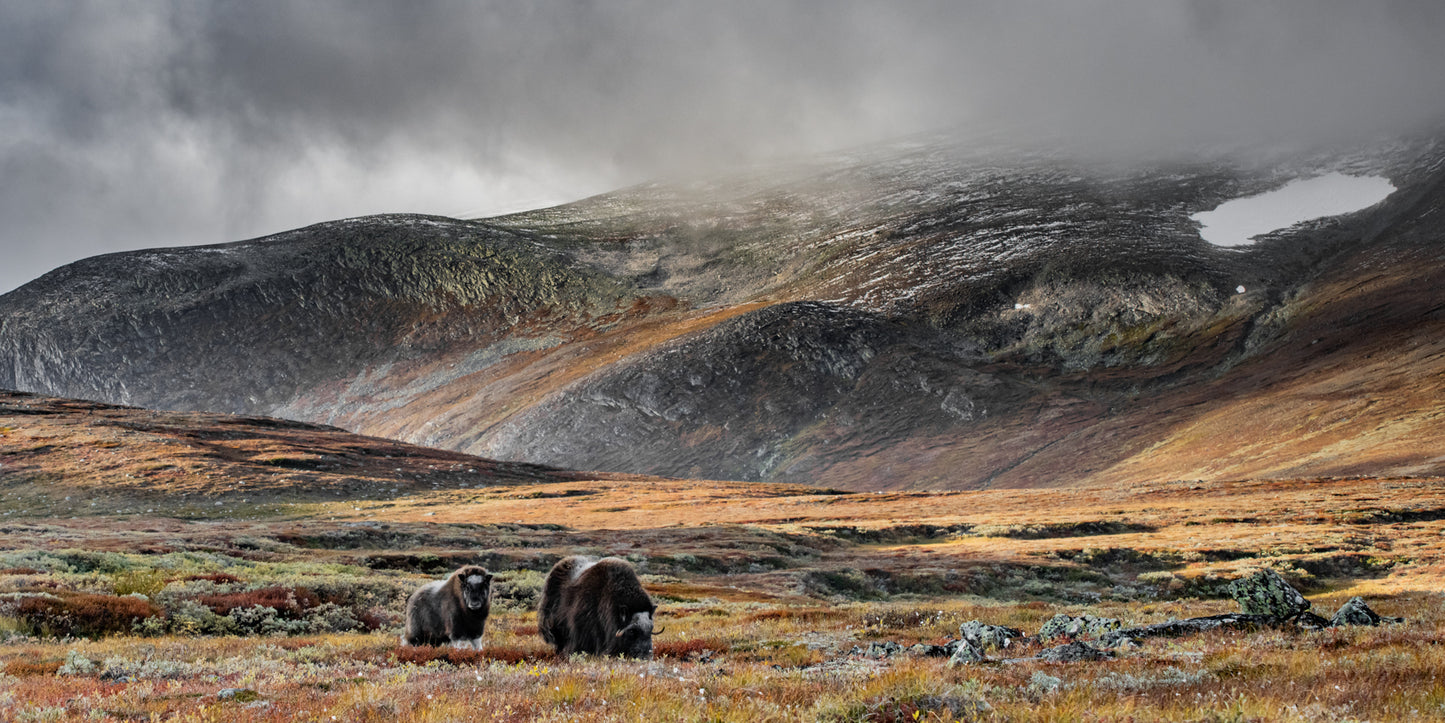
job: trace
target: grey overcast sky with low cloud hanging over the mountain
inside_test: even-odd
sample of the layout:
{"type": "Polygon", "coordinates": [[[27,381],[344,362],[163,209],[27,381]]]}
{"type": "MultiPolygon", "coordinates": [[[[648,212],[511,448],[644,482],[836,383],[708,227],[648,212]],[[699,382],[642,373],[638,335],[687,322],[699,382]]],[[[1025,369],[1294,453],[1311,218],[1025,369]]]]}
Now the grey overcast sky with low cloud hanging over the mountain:
{"type": "Polygon", "coordinates": [[[0,0],[0,292],[123,249],[496,214],[988,123],[1332,139],[1445,113],[1445,1],[0,0]]]}

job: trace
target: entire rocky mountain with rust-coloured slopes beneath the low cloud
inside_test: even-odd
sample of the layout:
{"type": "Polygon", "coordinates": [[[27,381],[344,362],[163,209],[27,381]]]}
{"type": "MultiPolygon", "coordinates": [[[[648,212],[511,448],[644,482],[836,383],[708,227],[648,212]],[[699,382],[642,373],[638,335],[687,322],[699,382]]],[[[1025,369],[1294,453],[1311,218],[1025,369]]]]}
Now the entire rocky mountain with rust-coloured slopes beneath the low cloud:
{"type": "Polygon", "coordinates": [[[1438,474],[1442,207],[1431,139],[918,142],[88,259],[0,296],[0,388],[850,489],[1438,474]],[[1331,171],[1397,191],[1238,249],[1189,218],[1331,171]]]}

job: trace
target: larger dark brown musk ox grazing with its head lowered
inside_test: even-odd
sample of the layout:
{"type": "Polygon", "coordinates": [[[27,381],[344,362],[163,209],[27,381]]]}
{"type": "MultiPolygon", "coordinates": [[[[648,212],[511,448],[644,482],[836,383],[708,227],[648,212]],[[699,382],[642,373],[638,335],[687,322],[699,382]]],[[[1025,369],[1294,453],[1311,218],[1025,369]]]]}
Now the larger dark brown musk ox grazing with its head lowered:
{"type": "Polygon", "coordinates": [[[546,576],[538,632],[559,655],[652,658],[656,612],[626,560],[569,557],[546,576]]]}

